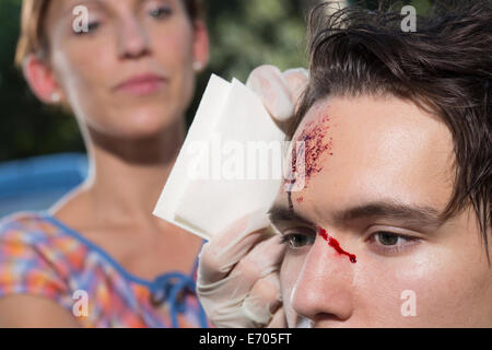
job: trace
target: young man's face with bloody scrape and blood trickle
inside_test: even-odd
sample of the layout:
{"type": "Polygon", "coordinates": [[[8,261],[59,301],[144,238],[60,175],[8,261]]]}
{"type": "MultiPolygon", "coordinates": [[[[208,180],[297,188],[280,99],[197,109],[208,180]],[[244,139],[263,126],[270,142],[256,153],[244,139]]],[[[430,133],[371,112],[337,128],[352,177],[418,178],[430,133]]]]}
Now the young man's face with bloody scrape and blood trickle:
{"type": "Polygon", "coordinates": [[[280,278],[290,327],[492,326],[476,217],[438,218],[454,180],[440,118],[396,97],[331,97],[293,140],[306,142],[306,186],[292,192],[293,211],[284,190],[271,211],[289,244],[280,278]]]}

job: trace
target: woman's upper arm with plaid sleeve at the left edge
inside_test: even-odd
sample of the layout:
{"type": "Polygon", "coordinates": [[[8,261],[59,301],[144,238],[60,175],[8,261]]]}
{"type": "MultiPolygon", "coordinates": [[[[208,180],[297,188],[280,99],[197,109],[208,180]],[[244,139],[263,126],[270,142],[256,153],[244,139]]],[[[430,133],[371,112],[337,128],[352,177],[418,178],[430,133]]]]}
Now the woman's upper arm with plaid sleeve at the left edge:
{"type": "Polygon", "coordinates": [[[80,327],[63,252],[39,223],[30,214],[0,223],[0,327],[80,327]]]}

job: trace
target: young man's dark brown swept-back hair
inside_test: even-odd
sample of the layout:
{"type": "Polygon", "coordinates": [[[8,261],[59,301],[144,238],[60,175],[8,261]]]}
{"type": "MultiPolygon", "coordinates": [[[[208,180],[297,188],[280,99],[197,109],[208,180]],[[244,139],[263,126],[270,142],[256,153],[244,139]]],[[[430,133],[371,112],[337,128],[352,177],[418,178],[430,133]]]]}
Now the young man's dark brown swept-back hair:
{"type": "MultiPolygon", "coordinates": [[[[449,3],[449,1],[447,1],[449,3]]],[[[329,95],[393,95],[437,115],[453,135],[455,183],[445,218],[471,205],[485,249],[492,199],[492,0],[435,7],[403,32],[398,11],[349,7],[309,18],[309,83],[289,138],[329,95]]],[[[487,250],[490,261],[489,250],[487,250]]]]}

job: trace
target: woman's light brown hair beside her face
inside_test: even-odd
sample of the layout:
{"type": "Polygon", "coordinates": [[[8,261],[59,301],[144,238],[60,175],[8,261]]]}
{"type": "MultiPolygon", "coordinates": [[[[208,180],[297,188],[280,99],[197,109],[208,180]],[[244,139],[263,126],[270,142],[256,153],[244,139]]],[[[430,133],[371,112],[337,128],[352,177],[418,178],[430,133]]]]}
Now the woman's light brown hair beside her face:
{"type": "MultiPolygon", "coordinates": [[[[191,20],[202,18],[201,0],[181,0],[191,20]]],[[[50,0],[23,0],[21,13],[21,36],[17,42],[15,65],[22,66],[24,58],[30,54],[43,55],[48,50],[49,43],[45,32],[46,13],[50,0]]]]}

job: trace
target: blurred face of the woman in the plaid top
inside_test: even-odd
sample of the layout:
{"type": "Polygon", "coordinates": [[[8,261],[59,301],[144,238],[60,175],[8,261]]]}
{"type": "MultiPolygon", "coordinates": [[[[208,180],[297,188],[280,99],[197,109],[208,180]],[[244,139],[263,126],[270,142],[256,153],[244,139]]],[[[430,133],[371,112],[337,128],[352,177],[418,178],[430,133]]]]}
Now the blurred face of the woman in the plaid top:
{"type": "Polygon", "coordinates": [[[46,31],[65,102],[89,128],[115,137],[148,137],[180,118],[192,65],[208,60],[206,28],[180,0],[51,0],[46,31]],[[89,32],[73,30],[77,5],[87,9],[89,32]]]}

